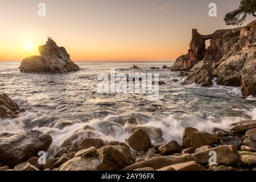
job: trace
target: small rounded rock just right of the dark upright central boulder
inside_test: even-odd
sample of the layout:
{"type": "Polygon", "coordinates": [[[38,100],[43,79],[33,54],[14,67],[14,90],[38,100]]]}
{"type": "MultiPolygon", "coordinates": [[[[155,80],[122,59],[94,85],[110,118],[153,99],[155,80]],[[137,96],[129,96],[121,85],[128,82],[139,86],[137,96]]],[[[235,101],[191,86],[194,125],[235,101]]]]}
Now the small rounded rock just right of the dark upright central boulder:
{"type": "Polygon", "coordinates": [[[158,153],[163,155],[170,155],[176,152],[180,152],[182,148],[180,147],[179,143],[176,140],[171,140],[170,142],[160,146],[158,148],[158,153]]]}

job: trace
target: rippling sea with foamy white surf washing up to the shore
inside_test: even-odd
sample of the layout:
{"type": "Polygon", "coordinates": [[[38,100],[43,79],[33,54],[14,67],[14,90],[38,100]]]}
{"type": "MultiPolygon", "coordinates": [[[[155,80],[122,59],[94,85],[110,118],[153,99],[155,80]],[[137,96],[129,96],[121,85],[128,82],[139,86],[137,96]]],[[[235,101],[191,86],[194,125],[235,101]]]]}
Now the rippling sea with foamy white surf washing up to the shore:
{"type": "Polygon", "coordinates": [[[181,142],[184,127],[212,133],[214,127],[228,129],[230,123],[256,119],[254,97],[241,97],[241,88],[214,85],[181,85],[179,72],[151,70],[172,63],[77,63],[81,70],[65,74],[26,74],[19,63],[0,63],[0,93],[7,93],[26,112],[15,119],[0,120],[0,132],[17,133],[38,129],[51,134],[57,150],[63,141],[84,126],[92,126],[99,138],[123,142],[129,133],[119,121],[136,118],[141,126],[158,127],[163,140],[181,142]],[[97,93],[97,76],[110,73],[159,73],[159,98],[147,94],[97,93]],[[174,82],[172,80],[179,81],[174,82]],[[65,127],[60,127],[65,123],[65,127]]]}

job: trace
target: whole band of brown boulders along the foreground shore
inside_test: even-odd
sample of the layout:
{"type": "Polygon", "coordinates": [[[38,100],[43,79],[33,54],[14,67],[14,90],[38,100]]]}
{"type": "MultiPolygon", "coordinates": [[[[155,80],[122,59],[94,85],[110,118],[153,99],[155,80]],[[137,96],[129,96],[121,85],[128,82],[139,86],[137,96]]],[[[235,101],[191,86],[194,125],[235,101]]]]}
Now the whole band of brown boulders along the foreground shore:
{"type": "MultiPolygon", "coordinates": [[[[6,100],[9,97],[0,101],[8,104],[6,100]]],[[[214,128],[212,134],[186,127],[181,144],[161,139],[161,129],[137,126],[125,118],[123,123],[129,123],[131,133],[125,142],[105,142],[85,126],[66,138],[43,164],[39,164],[39,152],[51,151],[51,134],[0,133],[0,171],[256,170],[256,120],[233,123],[228,131],[214,128]],[[216,152],[216,164],[210,160],[212,152],[216,152]]]]}

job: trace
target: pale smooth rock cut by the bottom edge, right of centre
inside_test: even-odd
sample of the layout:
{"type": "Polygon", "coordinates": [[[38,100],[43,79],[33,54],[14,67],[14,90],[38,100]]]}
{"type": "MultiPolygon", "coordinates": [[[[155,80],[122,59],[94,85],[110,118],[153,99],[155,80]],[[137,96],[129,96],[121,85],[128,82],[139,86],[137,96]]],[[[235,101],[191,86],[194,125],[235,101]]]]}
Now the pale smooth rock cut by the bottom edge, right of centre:
{"type": "Polygon", "coordinates": [[[208,171],[200,164],[197,164],[196,161],[174,164],[171,166],[158,169],[158,171],[172,171],[172,170],[166,170],[167,168],[168,169],[173,168],[175,171],[208,171]]]}

